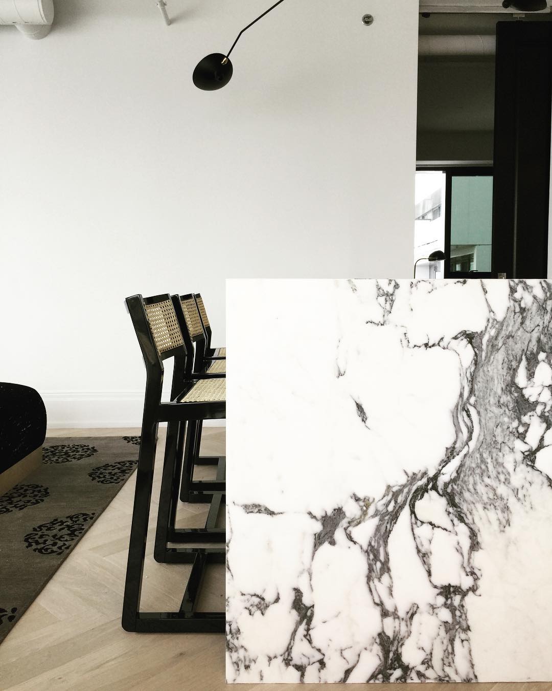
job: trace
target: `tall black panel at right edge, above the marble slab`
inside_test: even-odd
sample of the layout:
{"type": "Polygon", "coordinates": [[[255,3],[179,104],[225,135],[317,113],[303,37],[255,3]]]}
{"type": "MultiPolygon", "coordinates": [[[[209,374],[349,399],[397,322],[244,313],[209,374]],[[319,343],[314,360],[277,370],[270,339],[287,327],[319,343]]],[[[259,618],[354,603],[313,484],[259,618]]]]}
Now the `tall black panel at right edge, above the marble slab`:
{"type": "Polygon", "coordinates": [[[495,83],[493,272],[546,278],[552,24],[499,22],[495,83]]]}

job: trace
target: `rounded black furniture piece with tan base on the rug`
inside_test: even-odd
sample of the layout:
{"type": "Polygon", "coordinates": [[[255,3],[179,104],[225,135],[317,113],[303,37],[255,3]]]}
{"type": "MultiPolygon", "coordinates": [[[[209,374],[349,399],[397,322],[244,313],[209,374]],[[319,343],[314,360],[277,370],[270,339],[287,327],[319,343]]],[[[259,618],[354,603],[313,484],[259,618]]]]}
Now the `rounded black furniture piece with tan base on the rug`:
{"type": "Polygon", "coordinates": [[[42,461],[46,408],[30,386],[0,381],[0,495],[42,461]]]}

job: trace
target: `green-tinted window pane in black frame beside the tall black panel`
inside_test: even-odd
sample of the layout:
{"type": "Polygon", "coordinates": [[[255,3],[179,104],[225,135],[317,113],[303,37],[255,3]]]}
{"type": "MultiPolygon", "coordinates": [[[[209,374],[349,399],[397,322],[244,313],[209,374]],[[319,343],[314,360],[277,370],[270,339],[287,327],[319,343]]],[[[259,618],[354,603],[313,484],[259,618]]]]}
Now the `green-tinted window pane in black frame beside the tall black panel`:
{"type": "Polygon", "coordinates": [[[489,272],[493,176],[453,176],[451,182],[451,272],[489,272]]]}

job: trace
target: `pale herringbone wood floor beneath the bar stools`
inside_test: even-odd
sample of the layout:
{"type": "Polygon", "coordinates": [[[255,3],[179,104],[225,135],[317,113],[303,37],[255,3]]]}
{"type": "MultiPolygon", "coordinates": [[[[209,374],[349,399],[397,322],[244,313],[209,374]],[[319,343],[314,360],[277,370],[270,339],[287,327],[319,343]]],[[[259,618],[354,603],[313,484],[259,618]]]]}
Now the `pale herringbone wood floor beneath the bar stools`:
{"type": "MultiPolygon", "coordinates": [[[[86,437],[138,433],[139,430],[120,429],[55,430],[50,435],[86,437]]],[[[162,453],[162,437],[160,442],[162,453]]],[[[224,428],[204,429],[201,453],[224,453],[224,428]]],[[[154,504],[159,491],[159,466],[158,462],[154,504]]],[[[131,478],[0,646],[1,691],[218,691],[224,688],[224,637],[221,634],[128,634],[121,629],[133,491],[131,478]]],[[[179,509],[182,526],[199,524],[204,518],[203,507],[186,509],[181,505],[179,509]]],[[[142,608],[178,607],[188,567],[156,564],[151,552],[148,542],[142,608]]],[[[224,606],[223,568],[213,567],[206,579],[202,608],[224,606]]],[[[382,686],[390,685],[378,687],[385,691],[382,686]]],[[[437,684],[431,686],[431,691],[454,691],[456,686],[459,685],[437,684]]],[[[552,691],[551,683],[509,684],[507,687],[508,691],[552,691]]],[[[319,687],[241,685],[239,688],[244,691],[273,691],[276,688],[306,691],[319,687]]],[[[355,686],[337,684],[331,688],[337,691],[355,686]]],[[[506,691],[506,685],[477,685],[477,691],[491,689],[506,691]]]]}

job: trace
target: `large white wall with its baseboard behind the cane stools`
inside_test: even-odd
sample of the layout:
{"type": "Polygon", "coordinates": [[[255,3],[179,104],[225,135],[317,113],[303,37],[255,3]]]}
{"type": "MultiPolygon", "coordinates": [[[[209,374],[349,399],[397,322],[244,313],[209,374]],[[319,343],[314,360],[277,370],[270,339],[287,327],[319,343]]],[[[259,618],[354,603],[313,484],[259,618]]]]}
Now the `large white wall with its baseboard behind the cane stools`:
{"type": "MultiPolygon", "coordinates": [[[[50,424],[137,424],[124,298],[226,277],[410,276],[417,3],[57,0],[42,41],[0,30],[0,380],[50,424]],[[361,22],[365,12],[373,26],[361,22]]],[[[255,315],[252,315],[255,319],[255,315]]]]}

